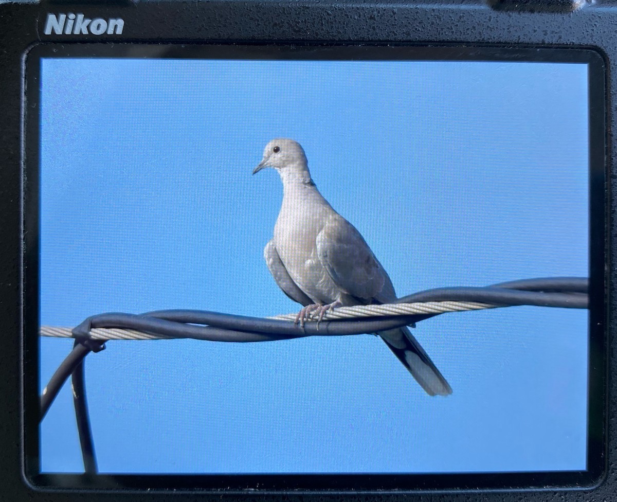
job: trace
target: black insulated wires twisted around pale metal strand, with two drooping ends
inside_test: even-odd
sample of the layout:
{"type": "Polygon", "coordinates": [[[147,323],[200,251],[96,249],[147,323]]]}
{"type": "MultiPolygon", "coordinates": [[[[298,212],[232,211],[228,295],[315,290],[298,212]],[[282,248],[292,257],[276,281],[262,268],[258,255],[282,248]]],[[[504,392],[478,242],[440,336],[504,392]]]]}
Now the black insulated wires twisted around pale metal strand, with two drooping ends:
{"type": "MultiPolygon", "coordinates": [[[[399,298],[395,303],[465,301],[496,306],[544,306],[574,309],[589,308],[589,280],[583,277],[547,277],[503,282],[489,287],[453,287],[420,291],[399,298]]],[[[445,313],[445,312],[441,312],[445,313]]],[[[75,346],[62,361],[41,395],[40,420],[60,389],[72,375],[73,403],[80,437],[84,469],[96,474],[96,458],[86,403],[84,358],[104,348],[105,340],[89,338],[92,328],[133,329],[175,338],[211,341],[275,341],[314,335],[357,335],[412,325],[440,314],[405,314],[372,318],[306,322],[304,327],[288,320],[234,316],[220,312],[164,310],[146,314],[107,313],[88,317],[73,329],[75,346]]],[[[40,421],[39,420],[39,421],[40,421]]]]}

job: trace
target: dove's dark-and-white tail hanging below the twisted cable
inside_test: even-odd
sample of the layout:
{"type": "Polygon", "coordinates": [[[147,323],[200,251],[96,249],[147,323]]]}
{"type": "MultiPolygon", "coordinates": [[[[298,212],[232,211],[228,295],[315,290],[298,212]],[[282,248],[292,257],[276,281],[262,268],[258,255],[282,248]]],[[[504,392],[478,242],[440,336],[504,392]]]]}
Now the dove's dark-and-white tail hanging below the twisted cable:
{"type": "Polygon", "coordinates": [[[380,331],[378,335],[429,396],[452,394],[452,387],[407,328],[380,331]]]}

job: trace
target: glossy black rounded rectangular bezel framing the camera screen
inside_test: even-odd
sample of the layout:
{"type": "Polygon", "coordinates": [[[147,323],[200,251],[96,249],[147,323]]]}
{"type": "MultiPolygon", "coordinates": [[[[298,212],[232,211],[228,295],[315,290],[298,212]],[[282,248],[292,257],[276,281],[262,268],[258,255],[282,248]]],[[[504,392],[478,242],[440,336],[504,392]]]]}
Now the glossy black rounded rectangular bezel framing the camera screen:
{"type": "MultiPolygon", "coordinates": [[[[586,488],[605,474],[607,382],[607,133],[605,62],[589,49],[426,47],[371,45],[164,45],[38,44],[27,55],[25,75],[25,165],[23,165],[23,433],[24,471],[31,485],[68,489],[259,490],[280,492],[396,492],[586,488]],[[131,475],[40,474],[38,413],[39,312],[39,62],[41,58],[287,59],[364,61],[569,62],[588,65],[589,75],[589,383],[587,470],[462,474],[238,474],[131,475]]],[[[515,132],[513,132],[515,133],[515,132]]],[[[95,438],[96,440],[96,438],[95,438]]]]}

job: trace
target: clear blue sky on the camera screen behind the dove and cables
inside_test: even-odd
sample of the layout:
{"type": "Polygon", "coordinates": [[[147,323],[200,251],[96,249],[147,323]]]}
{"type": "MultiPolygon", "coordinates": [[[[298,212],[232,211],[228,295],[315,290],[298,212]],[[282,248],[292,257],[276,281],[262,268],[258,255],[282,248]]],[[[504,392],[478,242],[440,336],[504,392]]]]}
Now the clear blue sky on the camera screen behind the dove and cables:
{"type": "MultiPolygon", "coordinates": [[[[263,261],[313,180],[400,296],[587,275],[587,68],[502,62],[44,59],[41,323],[187,308],[297,311],[263,261]]],[[[489,472],[586,466],[587,312],[446,314],[414,335],[424,394],[381,340],[111,341],[86,362],[101,472],[489,472]]],[[[70,351],[41,340],[41,387],[70,351]]],[[[44,472],[80,472],[70,390],[44,472]]]]}

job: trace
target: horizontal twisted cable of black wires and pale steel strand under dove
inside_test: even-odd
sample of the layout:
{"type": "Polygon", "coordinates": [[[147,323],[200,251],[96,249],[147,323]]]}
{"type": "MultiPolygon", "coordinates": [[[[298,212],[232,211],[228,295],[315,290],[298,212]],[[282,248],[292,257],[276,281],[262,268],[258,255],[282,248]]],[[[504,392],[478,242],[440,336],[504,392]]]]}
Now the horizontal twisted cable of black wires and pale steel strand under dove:
{"type": "Polygon", "coordinates": [[[355,335],[411,325],[445,312],[535,305],[587,308],[587,278],[550,277],[500,283],[491,287],[437,288],[405,296],[391,304],[339,307],[321,323],[292,325],[297,314],[260,318],[219,312],[167,310],[146,314],[92,316],[72,330],[41,327],[41,335],[92,340],[196,338],[211,341],[268,341],[310,335],[355,335]]]}

